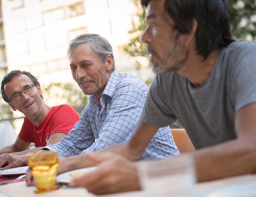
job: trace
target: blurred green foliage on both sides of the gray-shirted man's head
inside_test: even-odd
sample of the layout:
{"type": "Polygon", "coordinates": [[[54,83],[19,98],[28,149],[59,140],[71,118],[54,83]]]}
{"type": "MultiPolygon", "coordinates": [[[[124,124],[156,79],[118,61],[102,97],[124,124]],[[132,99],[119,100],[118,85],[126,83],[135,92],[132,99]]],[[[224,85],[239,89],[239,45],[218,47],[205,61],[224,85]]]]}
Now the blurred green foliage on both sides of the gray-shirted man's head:
{"type": "MultiPolygon", "coordinates": [[[[255,0],[228,0],[230,4],[231,31],[235,39],[249,38],[256,39],[256,3],[255,0]]],[[[124,51],[132,57],[142,56],[149,60],[146,44],[142,43],[140,36],[146,29],[145,22],[146,9],[142,8],[139,0],[134,0],[138,10],[139,22],[133,24],[133,29],[129,31],[132,35],[130,42],[124,45],[124,51]]],[[[149,61],[150,62],[150,61],[149,61]]],[[[137,69],[140,65],[136,63],[137,69]]]]}

